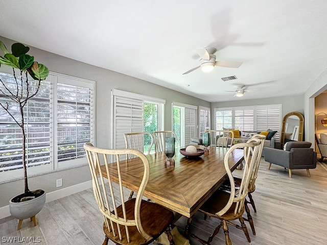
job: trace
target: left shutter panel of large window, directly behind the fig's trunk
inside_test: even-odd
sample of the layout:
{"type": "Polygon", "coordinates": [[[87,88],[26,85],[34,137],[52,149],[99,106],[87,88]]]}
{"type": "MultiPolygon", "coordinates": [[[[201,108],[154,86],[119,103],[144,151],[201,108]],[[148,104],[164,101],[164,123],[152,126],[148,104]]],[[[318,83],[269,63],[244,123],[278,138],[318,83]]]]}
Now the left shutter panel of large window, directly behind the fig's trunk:
{"type": "MultiPolygon", "coordinates": [[[[12,75],[0,74],[7,87],[16,86],[12,75]]],[[[36,90],[36,82],[30,84],[30,91],[36,90]]],[[[2,84],[0,89],[5,91],[2,84]]],[[[25,95],[25,94],[24,94],[25,95]]],[[[23,95],[23,96],[24,96],[23,95]]],[[[3,105],[8,103],[9,111],[20,122],[17,104],[0,94],[3,105]]],[[[42,81],[37,95],[24,107],[27,165],[50,164],[50,82],[42,81]]],[[[20,127],[0,107],[0,171],[22,168],[22,136],[20,127]]]]}

